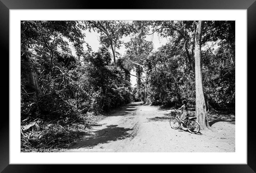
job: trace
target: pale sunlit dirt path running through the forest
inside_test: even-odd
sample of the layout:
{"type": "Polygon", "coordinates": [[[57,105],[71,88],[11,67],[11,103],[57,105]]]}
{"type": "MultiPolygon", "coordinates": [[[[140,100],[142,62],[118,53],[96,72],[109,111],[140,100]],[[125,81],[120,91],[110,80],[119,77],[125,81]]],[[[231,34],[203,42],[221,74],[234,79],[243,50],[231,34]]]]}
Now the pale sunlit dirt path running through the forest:
{"type": "MultiPolygon", "coordinates": [[[[190,112],[193,114],[193,112],[190,112]]],[[[235,152],[235,121],[210,119],[191,134],[169,125],[170,110],[132,103],[105,117],[68,152],[235,152]]]]}

